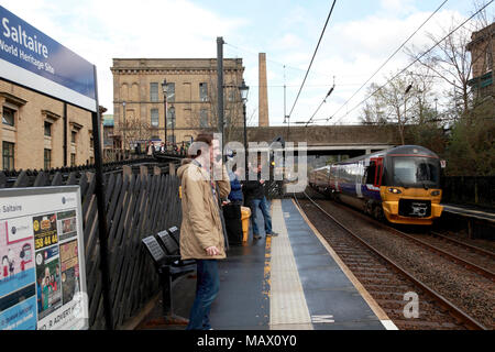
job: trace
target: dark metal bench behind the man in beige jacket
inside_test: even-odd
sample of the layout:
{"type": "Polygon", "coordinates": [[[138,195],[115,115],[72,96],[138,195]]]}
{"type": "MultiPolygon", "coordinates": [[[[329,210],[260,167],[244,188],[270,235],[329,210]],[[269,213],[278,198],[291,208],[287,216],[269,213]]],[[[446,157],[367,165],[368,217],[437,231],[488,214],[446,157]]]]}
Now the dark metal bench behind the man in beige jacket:
{"type": "MultiPolygon", "coordinates": [[[[170,232],[179,232],[177,228],[170,228],[170,232]]],[[[180,249],[176,240],[168,231],[161,231],[142,240],[150,253],[156,272],[160,275],[163,294],[163,318],[166,324],[187,324],[187,319],[174,315],[172,283],[188,273],[196,271],[196,261],[182,261],[180,249]]]]}

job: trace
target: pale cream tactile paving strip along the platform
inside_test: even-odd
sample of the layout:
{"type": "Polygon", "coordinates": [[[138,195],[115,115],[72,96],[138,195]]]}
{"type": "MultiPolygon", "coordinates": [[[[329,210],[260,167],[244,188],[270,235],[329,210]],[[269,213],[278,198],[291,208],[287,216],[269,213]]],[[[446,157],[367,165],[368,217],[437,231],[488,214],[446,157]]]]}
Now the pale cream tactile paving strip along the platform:
{"type": "Polygon", "coordinates": [[[312,330],[279,199],[272,201],[272,220],[279,234],[272,238],[270,327],[312,330]]]}

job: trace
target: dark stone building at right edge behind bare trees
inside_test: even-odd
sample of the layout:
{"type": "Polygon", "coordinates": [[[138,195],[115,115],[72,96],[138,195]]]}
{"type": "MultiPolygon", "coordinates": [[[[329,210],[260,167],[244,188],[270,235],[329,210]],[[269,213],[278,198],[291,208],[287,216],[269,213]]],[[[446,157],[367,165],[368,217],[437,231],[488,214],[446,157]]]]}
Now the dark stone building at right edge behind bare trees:
{"type": "Polygon", "coordinates": [[[474,32],[468,44],[473,64],[473,78],[469,85],[475,89],[479,97],[495,97],[493,82],[494,52],[495,52],[495,22],[474,32]]]}

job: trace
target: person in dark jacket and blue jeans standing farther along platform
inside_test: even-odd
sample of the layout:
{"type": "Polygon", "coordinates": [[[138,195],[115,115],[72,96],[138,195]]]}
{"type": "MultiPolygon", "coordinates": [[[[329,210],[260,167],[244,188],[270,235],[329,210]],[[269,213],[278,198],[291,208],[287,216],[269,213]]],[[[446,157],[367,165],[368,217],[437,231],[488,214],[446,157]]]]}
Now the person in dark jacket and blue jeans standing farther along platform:
{"type": "Polygon", "coordinates": [[[261,209],[265,222],[266,237],[276,237],[278,233],[272,230],[272,216],[270,215],[268,200],[265,197],[266,182],[261,177],[261,165],[256,168],[256,179],[244,183],[245,205],[251,208],[251,226],[253,227],[253,239],[260,240],[260,229],[256,223],[256,210],[261,209]]]}

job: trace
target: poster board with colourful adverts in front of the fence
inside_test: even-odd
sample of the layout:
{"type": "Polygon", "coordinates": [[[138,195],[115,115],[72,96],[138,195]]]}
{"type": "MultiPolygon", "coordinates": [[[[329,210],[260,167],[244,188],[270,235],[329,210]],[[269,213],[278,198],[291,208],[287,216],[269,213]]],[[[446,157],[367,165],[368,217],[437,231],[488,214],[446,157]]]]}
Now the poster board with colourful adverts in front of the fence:
{"type": "Polygon", "coordinates": [[[79,186],[0,189],[0,330],[86,330],[79,186]]]}

